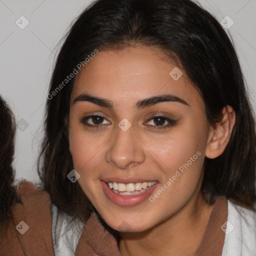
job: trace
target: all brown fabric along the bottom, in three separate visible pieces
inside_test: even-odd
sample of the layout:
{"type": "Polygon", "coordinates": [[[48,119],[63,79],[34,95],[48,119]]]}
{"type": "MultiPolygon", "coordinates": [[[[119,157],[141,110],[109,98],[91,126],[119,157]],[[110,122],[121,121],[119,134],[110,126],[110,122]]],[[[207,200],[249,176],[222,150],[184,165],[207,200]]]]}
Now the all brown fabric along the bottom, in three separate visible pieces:
{"type": "MultiPolygon", "coordinates": [[[[18,193],[23,202],[12,211],[0,238],[0,256],[53,256],[51,234],[51,201],[49,194],[28,181],[19,183],[18,193]],[[28,230],[21,234],[18,230],[28,230]],[[17,229],[16,229],[17,226],[17,229]]],[[[203,239],[194,256],[221,256],[225,233],[221,225],[227,220],[227,201],[217,197],[203,239]]],[[[75,256],[120,256],[115,237],[101,224],[95,213],[86,222],[78,240],[75,256]]]]}

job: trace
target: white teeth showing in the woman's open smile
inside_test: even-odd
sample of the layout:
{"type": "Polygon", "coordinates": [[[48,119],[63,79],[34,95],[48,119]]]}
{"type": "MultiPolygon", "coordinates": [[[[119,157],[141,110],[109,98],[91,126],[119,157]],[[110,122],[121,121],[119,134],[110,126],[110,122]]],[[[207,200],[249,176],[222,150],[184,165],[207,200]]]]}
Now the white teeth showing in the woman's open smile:
{"type": "Polygon", "coordinates": [[[142,192],[145,192],[151,188],[156,181],[151,182],[137,182],[137,183],[117,183],[117,182],[108,182],[107,185],[111,190],[120,195],[136,195],[142,192]]]}

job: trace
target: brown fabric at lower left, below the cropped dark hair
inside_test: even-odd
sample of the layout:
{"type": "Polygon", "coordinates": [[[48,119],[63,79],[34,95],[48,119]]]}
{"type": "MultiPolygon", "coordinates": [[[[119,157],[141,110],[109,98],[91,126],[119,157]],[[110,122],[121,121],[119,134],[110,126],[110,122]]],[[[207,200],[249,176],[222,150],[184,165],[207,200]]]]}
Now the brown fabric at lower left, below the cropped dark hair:
{"type": "Polygon", "coordinates": [[[51,235],[51,200],[38,184],[22,180],[16,203],[0,239],[1,255],[54,255],[51,235]]]}

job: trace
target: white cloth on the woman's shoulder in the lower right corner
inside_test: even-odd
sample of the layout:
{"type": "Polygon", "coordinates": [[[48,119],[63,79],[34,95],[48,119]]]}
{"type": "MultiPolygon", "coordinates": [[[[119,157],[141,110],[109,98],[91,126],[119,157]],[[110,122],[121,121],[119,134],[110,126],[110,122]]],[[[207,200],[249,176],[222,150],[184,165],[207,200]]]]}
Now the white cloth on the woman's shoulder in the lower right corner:
{"type": "Polygon", "coordinates": [[[227,200],[227,222],[222,255],[256,254],[256,212],[227,200]]]}

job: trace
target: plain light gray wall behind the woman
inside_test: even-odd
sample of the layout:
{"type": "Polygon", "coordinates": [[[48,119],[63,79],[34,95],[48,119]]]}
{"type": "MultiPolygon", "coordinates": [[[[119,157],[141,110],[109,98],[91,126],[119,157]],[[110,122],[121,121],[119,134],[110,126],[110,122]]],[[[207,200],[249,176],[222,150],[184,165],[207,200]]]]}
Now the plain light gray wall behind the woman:
{"type": "MultiPolygon", "coordinates": [[[[38,180],[36,156],[42,137],[43,110],[56,47],[73,18],[90,0],[0,0],[0,94],[18,121],[14,167],[16,179],[38,180]],[[29,24],[24,25],[24,16],[29,24]],[[22,126],[23,125],[23,126],[22,126]],[[27,126],[28,125],[28,126],[27,126]],[[27,127],[26,127],[27,126],[27,127]]],[[[256,0],[199,0],[233,39],[256,112],[256,0]],[[227,20],[227,25],[231,24],[227,20]]]]}

